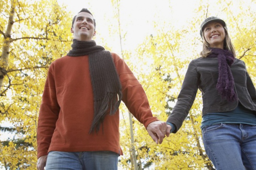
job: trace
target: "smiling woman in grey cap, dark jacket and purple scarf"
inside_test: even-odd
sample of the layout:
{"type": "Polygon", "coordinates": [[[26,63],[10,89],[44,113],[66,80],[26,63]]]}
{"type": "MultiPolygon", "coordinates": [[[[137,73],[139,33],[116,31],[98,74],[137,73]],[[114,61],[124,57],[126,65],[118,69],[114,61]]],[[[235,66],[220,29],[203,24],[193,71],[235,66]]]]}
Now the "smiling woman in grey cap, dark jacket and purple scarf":
{"type": "Polygon", "coordinates": [[[201,57],[190,62],[167,132],[176,133],[197,90],[203,98],[201,129],[217,170],[256,170],[256,90],[242,60],[235,58],[226,23],[209,17],[201,24],[201,57]]]}

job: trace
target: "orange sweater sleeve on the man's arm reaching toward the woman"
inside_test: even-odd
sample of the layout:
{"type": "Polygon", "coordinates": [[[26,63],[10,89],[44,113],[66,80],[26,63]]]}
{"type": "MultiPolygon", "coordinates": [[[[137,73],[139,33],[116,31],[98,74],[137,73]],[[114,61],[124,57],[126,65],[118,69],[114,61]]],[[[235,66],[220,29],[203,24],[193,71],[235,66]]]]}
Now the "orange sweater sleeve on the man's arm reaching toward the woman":
{"type": "Polygon", "coordinates": [[[131,114],[147,128],[149,123],[158,119],[152,116],[146,93],[124,60],[118,57],[117,54],[113,55],[117,74],[122,84],[122,101],[131,114]]]}

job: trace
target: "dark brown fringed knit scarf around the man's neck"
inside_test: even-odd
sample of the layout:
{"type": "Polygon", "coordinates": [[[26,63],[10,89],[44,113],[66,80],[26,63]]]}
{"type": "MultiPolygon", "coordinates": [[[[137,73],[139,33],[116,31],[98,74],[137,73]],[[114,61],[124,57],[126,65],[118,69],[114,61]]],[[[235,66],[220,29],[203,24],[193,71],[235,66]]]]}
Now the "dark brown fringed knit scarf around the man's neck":
{"type": "MultiPolygon", "coordinates": [[[[122,86],[114,65],[113,58],[104,47],[95,41],[73,39],[72,50],[68,56],[89,56],[89,70],[93,86],[94,118],[90,133],[99,131],[100,125],[108,112],[116,113],[122,99],[122,86]]],[[[103,128],[103,126],[102,126],[103,128]]]]}

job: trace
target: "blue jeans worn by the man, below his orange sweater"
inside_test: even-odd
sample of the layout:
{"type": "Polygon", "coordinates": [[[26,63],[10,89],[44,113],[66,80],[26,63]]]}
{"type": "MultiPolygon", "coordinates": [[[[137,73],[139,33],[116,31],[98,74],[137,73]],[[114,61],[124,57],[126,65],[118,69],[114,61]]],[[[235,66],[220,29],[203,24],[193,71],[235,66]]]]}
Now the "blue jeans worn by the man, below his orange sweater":
{"type": "Polygon", "coordinates": [[[117,170],[118,154],[111,151],[48,153],[46,170],[117,170]]]}

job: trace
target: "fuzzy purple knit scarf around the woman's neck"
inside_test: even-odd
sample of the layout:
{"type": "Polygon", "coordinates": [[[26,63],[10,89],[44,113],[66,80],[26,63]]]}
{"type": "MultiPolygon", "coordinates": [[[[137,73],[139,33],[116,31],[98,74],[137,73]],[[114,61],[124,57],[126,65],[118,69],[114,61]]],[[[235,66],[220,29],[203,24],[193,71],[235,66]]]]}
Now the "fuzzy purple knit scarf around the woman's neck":
{"type": "Polygon", "coordinates": [[[237,100],[234,90],[234,78],[230,69],[235,60],[234,55],[230,51],[222,50],[221,48],[210,48],[210,50],[212,54],[207,57],[218,57],[219,78],[216,88],[219,94],[228,101],[237,100]]]}

